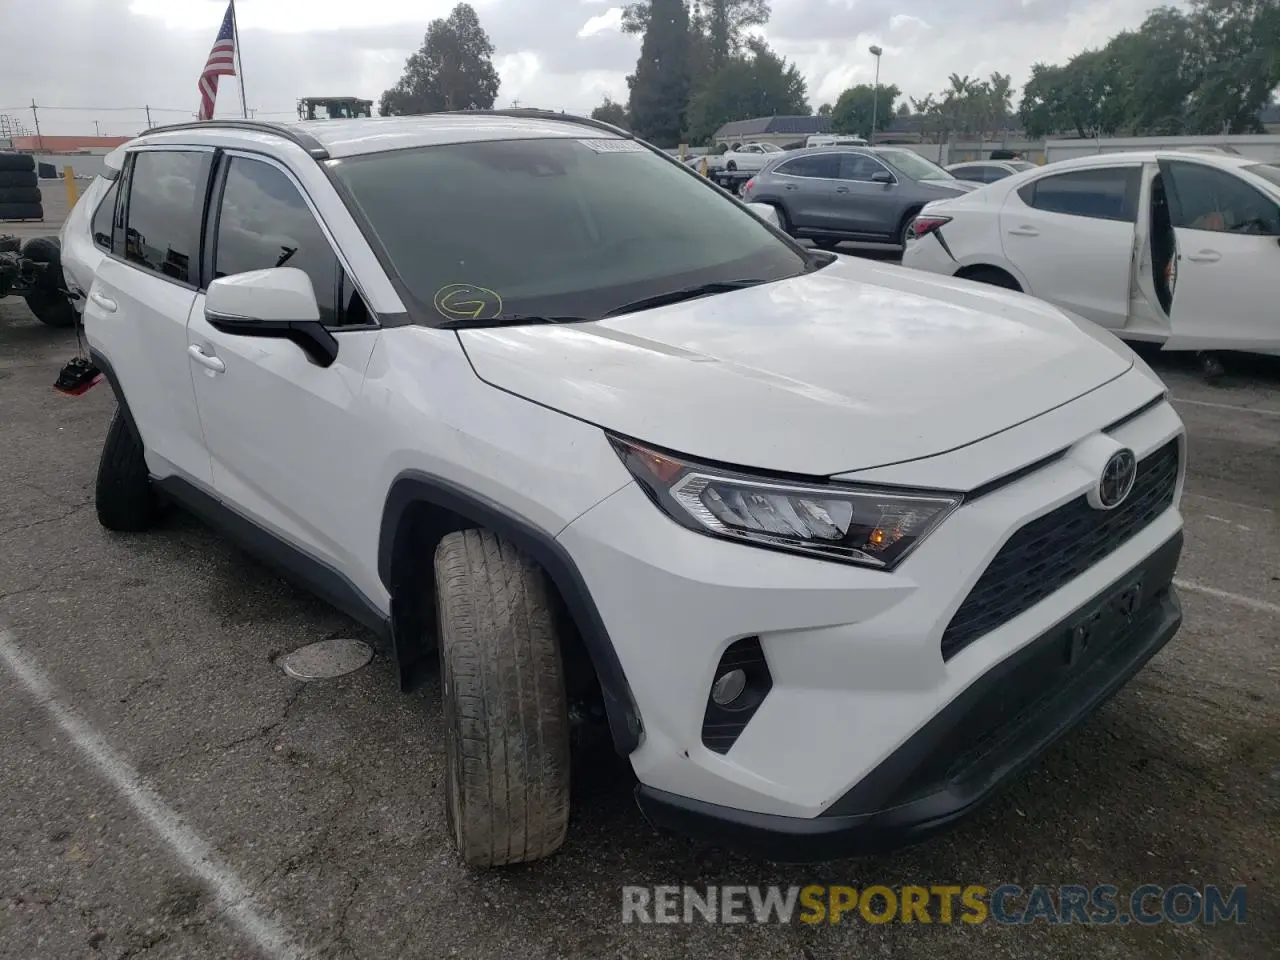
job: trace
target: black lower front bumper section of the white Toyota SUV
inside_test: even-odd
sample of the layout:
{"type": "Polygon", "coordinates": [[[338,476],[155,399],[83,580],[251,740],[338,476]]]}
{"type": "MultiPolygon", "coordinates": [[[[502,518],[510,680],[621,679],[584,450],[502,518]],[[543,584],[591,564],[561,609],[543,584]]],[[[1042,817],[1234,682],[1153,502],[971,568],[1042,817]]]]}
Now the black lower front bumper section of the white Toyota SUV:
{"type": "Polygon", "coordinates": [[[876,854],[966,815],[1093,713],[1178,631],[1179,532],[1016,654],[984,673],[820,817],[749,813],[640,785],[657,827],[782,863],[876,854]],[[1080,648],[1078,623],[1134,584],[1143,602],[1080,648]]]}

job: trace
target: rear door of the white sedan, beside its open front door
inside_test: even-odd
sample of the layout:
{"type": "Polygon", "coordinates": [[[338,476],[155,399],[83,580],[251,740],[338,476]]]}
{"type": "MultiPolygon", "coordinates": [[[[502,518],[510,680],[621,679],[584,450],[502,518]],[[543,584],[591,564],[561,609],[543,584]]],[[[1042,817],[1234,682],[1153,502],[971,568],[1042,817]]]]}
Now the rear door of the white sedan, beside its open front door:
{"type": "Polygon", "coordinates": [[[1034,297],[1102,326],[1129,315],[1142,164],[1089,166],[1038,177],[1000,211],[1005,256],[1034,297]]]}

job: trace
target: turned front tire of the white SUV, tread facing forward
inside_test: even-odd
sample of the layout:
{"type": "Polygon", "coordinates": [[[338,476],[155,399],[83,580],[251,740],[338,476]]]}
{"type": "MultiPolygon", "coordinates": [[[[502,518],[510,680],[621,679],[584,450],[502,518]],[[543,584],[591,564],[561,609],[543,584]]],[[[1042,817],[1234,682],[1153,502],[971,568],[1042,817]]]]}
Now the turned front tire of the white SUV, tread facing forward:
{"type": "Polygon", "coordinates": [[[474,867],[549,856],[568,831],[570,724],[547,580],[463,530],[435,550],[435,590],[453,841],[474,867]]]}

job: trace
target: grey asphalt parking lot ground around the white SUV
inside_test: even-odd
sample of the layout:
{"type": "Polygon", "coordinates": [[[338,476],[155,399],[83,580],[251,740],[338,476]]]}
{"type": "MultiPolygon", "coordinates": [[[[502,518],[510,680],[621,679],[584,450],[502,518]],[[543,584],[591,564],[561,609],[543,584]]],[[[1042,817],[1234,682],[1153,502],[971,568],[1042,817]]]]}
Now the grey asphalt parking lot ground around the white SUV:
{"type": "MultiPolygon", "coordinates": [[[[0,224],[0,232],[3,232],[0,224]]],[[[476,873],[442,809],[438,689],[193,520],[95,518],[104,385],[54,393],[67,332],[0,302],[0,956],[1274,957],[1280,954],[1280,365],[1219,387],[1153,361],[1190,431],[1180,634],[952,833],[783,868],[654,832],[609,756],[556,858],[476,873]],[[621,923],[623,884],[1248,884],[1243,925],[621,923]]]]}

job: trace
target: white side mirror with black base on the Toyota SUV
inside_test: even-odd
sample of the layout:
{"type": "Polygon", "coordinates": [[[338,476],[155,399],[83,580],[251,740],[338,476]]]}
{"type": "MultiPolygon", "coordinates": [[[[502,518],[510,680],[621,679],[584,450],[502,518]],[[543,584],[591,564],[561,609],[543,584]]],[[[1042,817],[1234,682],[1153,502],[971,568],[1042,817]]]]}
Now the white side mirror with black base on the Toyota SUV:
{"type": "Polygon", "coordinates": [[[296,266],[218,278],[205,293],[205,320],[236,337],[292,340],[319,366],[338,358],[338,338],[320,323],[311,278],[296,266]]]}

